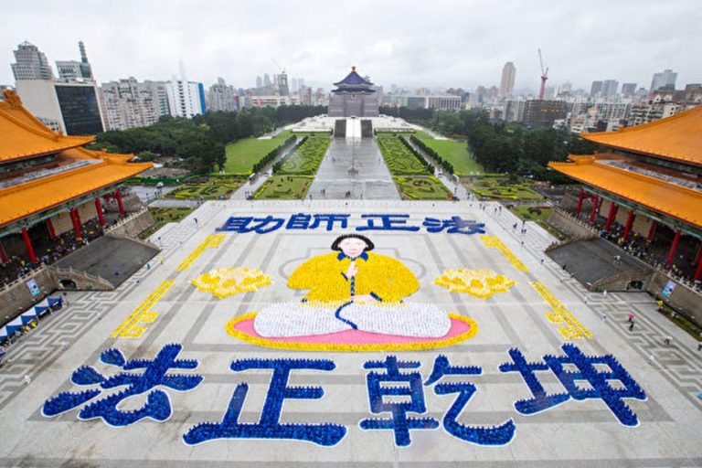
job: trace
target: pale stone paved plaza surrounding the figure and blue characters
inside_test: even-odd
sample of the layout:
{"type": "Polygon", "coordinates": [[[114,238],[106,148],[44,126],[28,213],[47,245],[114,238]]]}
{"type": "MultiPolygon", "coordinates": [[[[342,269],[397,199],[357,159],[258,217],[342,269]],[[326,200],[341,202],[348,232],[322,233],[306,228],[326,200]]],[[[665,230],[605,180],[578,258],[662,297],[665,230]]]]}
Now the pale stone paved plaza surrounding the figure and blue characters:
{"type": "MultiPolygon", "coordinates": [[[[9,362],[0,368],[0,465],[702,466],[702,400],[696,396],[702,390],[702,354],[697,352],[695,341],[655,313],[652,299],[644,293],[611,293],[606,297],[586,293],[543,256],[543,249],[552,241],[546,232],[527,223],[527,234],[520,238],[512,229],[514,222],[516,218],[497,209],[496,204],[488,203],[482,209],[465,201],[350,200],[345,204],[315,198],[312,202],[207,202],[179,224],[159,232],[164,251],[149,268],[137,271],[114,292],[69,293],[66,309],[13,346],[9,362]],[[298,213],[348,214],[349,225],[346,229],[335,225],[326,231],[324,224],[317,229],[285,229],[283,224],[261,234],[216,230],[230,217],[271,215],[287,222],[298,213]],[[364,214],[406,214],[408,225],[419,227],[428,217],[459,216],[484,223],[486,234],[502,242],[498,249],[488,247],[479,233],[429,232],[424,227],[415,232],[362,232],[375,242],[374,251],[401,261],[418,278],[420,290],[411,301],[432,303],[446,312],[470,317],[477,324],[477,334],[441,349],[348,353],[273,349],[227,333],[225,326],[235,317],[261,311],[271,303],[299,301],[303,292],[289,289],[288,277],[303,261],[328,252],[337,235],[366,226],[364,214]],[[190,283],[208,271],[231,267],[261,269],[271,277],[271,284],[219,299],[190,283]],[[458,268],[492,270],[515,284],[482,299],[450,293],[434,283],[446,269],[458,268]],[[543,286],[541,293],[534,286],[537,282],[543,286]],[[549,321],[547,314],[553,313],[554,307],[547,297],[555,298],[551,301],[560,304],[559,310],[567,310],[569,320],[590,333],[591,339],[564,338],[558,327],[567,324],[549,321]],[[630,312],[636,314],[633,332],[626,324],[630,312]],[[673,336],[671,346],[663,345],[665,335],[673,336]],[[569,342],[588,356],[612,354],[644,389],[646,400],[623,400],[637,416],[638,426],[620,423],[602,399],[571,398],[528,416],[516,410],[515,402],[530,399],[532,394],[518,373],[500,372],[499,366],[511,360],[507,351],[516,347],[528,362],[536,362],[545,355],[562,356],[560,346],[569,342]],[[117,348],[126,359],[154,359],[169,343],[182,345],[178,359],[197,359],[198,363],[195,369],[169,373],[197,374],[203,379],[189,391],[157,387],[170,400],[172,415],[167,420],[144,418],[125,427],[112,427],[100,418],[80,420],[78,415],[85,405],[51,418],[42,414],[45,401],[60,392],[97,388],[71,383],[71,374],[78,367],[94,367],[107,377],[116,373],[115,367],[100,362],[106,349],[117,348]],[[390,414],[371,412],[369,370],[364,368],[367,361],[384,361],[386,356],[417,361],[420,367],[401,370],[419,372],[426,382],[439,355],[448,357],[452,367],[482,368],[480,375],[441,380],[471,382],[476,387],[458,422],[490,428],[511,419],[516,431],[510,443],[484,446],[452,435],[441,421],[458,395],[437,395],[430,385],[420,387],[426,411],[415,407],[417,411],[410,411],[409,416],[436,420],[438,428],[410,430],[410,445],[398,446],[393,431],[360,427],[362,420],[388,419],[390,414]],[[654,356],[653,361],[649,356],[654,356]],[[259,421],[264,401],[267,395],[271,397],[271,370],[235,372],[230,365],[242,359],[276,358],[334,363],[333,370],[292,371],[288,386],[321,387],[324,396],[284,399],[280,422],[343,425],[346,435],[340,441],[332,446],[257,437],[196,445],[184,442],[184,434],[196,424],[222,421],[235,389],[244,382],[249,392],[238,421],[250,425],[259,421]]],[[[138,370],[132,372],[139,375],[138,370]]],[[[536,374],[548,394],[565,392],[554,373],[536,374]]],[[[578,385],[589,388],[583,380],[578,385]]],[[[102,390],[91,401],[115,392],[102,390]]],[[[146,395],[126,399],[116,410],[125,414],[140,410],[146,395]]]]}

